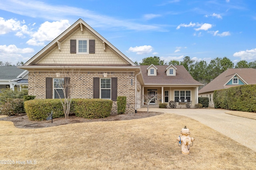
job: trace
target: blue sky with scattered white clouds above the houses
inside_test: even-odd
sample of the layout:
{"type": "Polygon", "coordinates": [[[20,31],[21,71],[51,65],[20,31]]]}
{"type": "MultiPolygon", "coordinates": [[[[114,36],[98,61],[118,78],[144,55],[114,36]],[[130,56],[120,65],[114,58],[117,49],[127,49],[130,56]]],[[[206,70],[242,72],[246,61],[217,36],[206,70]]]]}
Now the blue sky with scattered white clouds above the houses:
{"type": "Polygon", "coordinates": [[[254,0],[0,0],[0,61],[28,61],[79,18],[132,61],[256,61],[254,0]]]}

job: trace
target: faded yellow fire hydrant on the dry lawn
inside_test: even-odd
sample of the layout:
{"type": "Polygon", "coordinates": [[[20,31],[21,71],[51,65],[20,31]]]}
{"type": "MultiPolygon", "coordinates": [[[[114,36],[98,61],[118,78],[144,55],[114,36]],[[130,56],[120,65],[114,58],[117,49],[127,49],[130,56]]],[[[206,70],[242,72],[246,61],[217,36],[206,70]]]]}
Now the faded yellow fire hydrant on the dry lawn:
{"type": "Polygon", "coordinates": [[[176,139],[178,141],[178,145],[181,146],[182,154],[189,154],[190,147],[193,146],[193,141],[195,140],[193,137],[190,137],[189,129],[185,126],[181,129],[181,136],[176,139]],[[192,145],[190,145],[192,143],[192,145]]]}

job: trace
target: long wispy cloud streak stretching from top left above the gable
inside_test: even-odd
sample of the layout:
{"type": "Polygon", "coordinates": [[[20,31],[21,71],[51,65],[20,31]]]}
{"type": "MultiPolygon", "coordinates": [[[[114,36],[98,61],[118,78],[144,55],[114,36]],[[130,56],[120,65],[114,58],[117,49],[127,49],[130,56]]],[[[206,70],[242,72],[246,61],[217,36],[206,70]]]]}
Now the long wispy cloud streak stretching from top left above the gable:
{"type": "Polygon", "coordinates": [[[130,20],[120,20],[109,16],[96,14],[93,11],[83,8],[76,8],[64,5],[51,5],[46,2],[34,0],[6,0],[0,1],[0,9],[15,14],[29,16],[32,18],[44,18],[46,20],[61,20],[62,18],[81,18],[88,22],[92,27],[114,28],[121,27],[122,29],[130,30],[154,30],[168,31],[164,28],[166,25],[144,25],[130,20]]]}

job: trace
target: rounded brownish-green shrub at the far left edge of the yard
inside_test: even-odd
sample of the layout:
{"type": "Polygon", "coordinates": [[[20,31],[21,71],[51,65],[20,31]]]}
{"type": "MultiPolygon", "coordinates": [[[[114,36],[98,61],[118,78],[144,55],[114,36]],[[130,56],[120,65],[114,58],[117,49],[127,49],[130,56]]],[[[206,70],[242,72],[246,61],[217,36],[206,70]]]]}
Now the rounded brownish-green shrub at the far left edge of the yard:
{"type": "Polygon", "coordinates": [[[0,113],[8,116],[25,113],[23,99],[6,99],[6,102],[0,107],[0,113]]]}

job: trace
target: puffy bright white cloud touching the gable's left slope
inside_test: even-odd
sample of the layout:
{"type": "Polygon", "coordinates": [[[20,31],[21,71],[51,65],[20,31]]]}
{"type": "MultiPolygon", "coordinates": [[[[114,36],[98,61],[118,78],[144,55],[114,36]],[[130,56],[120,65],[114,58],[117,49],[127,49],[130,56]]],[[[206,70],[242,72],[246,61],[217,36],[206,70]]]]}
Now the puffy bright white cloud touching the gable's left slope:
{"type": "Polygon", "coordinates": [[[34,46],[44,46],[44,41],[52,41],[68,27],[70,27],[68,20],[56,22],[46,21],[40,25],[36,32],[32,33],[32,39],[28,40],[26,43],[34,46]]]}

